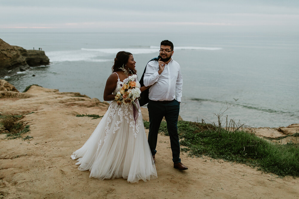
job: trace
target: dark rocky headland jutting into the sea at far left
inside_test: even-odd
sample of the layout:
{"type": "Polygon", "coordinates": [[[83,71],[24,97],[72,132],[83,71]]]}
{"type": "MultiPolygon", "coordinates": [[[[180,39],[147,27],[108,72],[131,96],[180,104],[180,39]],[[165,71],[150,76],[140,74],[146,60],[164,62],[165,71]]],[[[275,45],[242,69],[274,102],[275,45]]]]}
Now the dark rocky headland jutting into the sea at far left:
{"type": "Polygon", "coordinates": [[[25,71],[31,66],[48,65],[49,61],[42,50],[26,50],[0,39],[0,76],[25,71]]]}

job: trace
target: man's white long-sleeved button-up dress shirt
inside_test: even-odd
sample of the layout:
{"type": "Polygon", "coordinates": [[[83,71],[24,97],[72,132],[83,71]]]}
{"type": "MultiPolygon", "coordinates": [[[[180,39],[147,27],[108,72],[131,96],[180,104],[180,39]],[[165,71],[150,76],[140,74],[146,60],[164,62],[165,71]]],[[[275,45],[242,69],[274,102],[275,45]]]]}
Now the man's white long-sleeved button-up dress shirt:
{"type": "Polygon", "coordinates": [[[149,99],[153,101],[171,101],[176,98],[181,102],[183,78],[181,67],[172,58],[165,65],[161,75],[158,73],[158,61],[150,61],[144,74],[144,86],[152,85],[149,88],[149,99]]]}

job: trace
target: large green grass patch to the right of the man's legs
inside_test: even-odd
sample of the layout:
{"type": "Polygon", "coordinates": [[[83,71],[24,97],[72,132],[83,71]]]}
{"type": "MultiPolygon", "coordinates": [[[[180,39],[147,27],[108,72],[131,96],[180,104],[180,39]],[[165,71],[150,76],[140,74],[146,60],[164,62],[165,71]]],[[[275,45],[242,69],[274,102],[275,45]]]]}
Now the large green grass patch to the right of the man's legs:
{"type": "MultiPolygon", "coordinates": [[[[161,122],[159,132],[168,135],[166,122],[161,122]]],[[[279,176],[299,176],[298,144],[275,144],[245,131],[190,121],[178,121],[178,132],[180,144],[186,146],[182,151],[189,155],[244,163],[279,176]]]]}

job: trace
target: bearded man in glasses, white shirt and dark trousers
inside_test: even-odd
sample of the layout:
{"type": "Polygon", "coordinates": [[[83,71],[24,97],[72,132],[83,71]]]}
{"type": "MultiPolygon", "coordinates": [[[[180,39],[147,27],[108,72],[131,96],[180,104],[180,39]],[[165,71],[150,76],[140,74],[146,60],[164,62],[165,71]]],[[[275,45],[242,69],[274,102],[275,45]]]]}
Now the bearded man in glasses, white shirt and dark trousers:
{"type": "Polygon", "coordinates": [[[170,136],[173,167],[186,170],[188,168],[181,163],[177,125],[183,78],[180,65],[171,58],[173,52],[173,43],[171,41],[161,41],[159,60],[149,61],[144,73],[144,86],[152,85],[149,88],[149,103],[147,104],[149,111],[148,143],[155,162],[158,130],[165,116],[170,136]]]}

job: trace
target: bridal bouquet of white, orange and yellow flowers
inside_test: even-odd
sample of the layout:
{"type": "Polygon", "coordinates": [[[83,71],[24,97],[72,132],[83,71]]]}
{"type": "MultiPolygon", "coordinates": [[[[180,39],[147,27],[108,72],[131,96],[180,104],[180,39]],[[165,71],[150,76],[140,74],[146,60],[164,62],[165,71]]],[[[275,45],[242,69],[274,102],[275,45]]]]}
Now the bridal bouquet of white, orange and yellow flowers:
{"type": "Polygon", "coordinates": [[[141,91],[137,85],[137,75],[131,75],[120,84],[120,91],[115,95],[115,101],[120,106],[121,104],[132,103],[138,110],[135,100],[139,98],[141,91]]]}

